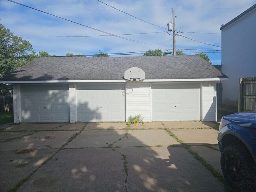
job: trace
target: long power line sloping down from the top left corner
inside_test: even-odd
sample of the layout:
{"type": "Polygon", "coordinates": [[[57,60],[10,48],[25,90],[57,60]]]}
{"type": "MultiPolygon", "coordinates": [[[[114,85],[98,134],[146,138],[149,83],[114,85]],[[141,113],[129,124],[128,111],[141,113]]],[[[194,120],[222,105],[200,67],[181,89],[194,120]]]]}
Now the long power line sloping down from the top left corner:
{"type": "Polygon", "coordinates": [[[150,46],[154,46],[154,47],[160,48],[160,47],[155,46],[155,45],[152,45],[152,44],[148,44],[148,43],[141,42],[141,41],[136,41],[136,40],[133,40],[133,39],[128,39],[128,38],[125,38],[125,37],[121,37],[121,36],[118,36],[118,35],[114,35],[114,34],[112,34],[112,33],[108,33],[108,32],[106,32],[106,31],[98,30],[98,29],[96,29],[96,28],[92,28],[92,27],[89,27],[89,26],[80,24],[80,23],[78,23],[78,22],[74,22],[74,21],[72,21],[72,20],[69,20],[69,19],[66,19],[66,18],[63,18],[63,17],[59,17],[59,16],[56,16],[56,15],[53,15],[53,14],[51,14],[51,13],[47,13],[47,12],[45,12],[45,11],[41,11],[41,10],[39,10],[39,9],[35,9],[35,8],[33,8],[33,7],[30,7],[30,6],[26,6],[26,5],[24,5],[24,4],[15,2],[15,1],[13,1],[13,0],[7,0],[7,1],[13,2],[13,3],[15,3],[15,4],[18,4],[18,5],[21,5],[21,6],[24,6],[24,7],[28,7],[28,8],[30,8],[30,9],[34,9],[34,10],[36,10],[36,11],[40,11],[40,12],[45,13],[45,14],[48,14],[48,15],[52,15],[52,16],[54,16],[54,17],[61,18],[61,19],[63,19],[63,20],[66,20],[66,21],[69,21],[69,22],[72,22],[72,23],[75,23],[75,24],[78,24],[78,25],[81,25],[81,26],[90,28],[90,29],[95,30],[95,31],[100,31],[100,32],[102,32],[102,33],[106,33],[106,34],[108,34],[108,35],[112,35],[112,36],[115,36],[115,37],[118,37],[118,38],[121,38],[121,39],[125,39],[125,40],[132,41],[132,42],[138,42],[138,43],[142,43],[142,44],[147,44],[147,45],[150,45],[150,46]]]}

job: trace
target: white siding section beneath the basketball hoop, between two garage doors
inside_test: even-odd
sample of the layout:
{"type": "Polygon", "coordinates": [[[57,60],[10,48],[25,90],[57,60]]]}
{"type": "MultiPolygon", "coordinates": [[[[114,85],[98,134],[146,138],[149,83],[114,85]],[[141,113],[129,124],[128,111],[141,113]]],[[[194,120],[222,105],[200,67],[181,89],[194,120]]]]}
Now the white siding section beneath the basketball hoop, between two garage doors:
{"type": "Polygon", "coordinates": [[[144,121],[150,121],[150,83],[126,84],[126,121],[130,115],[142,114],[144,121]]]}

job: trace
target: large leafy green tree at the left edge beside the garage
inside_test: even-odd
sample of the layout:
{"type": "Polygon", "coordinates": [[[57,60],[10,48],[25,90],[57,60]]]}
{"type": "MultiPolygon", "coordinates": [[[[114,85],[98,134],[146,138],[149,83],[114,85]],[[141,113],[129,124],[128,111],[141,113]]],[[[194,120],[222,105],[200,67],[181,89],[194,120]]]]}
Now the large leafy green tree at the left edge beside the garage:
{"type": "MultiPolygon", "coordinates": [[[[36,53],[30,42],[17,37],[0,24],[0,78],[35,59],[36,53]]],[[[0,94],[10,94],[11,87],[0,87],[0,94]]]]}

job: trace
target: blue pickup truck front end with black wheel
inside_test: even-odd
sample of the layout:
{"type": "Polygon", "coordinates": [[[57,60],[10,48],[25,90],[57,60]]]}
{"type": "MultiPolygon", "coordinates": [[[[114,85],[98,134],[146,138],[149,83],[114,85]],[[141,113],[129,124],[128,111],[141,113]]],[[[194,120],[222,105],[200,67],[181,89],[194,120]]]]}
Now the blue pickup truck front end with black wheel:
{"type": "Polygon", "coordinates": [[[256,191],[256,112],[221,119],[218,134],[221,169],[236,191],[256,191]]]}

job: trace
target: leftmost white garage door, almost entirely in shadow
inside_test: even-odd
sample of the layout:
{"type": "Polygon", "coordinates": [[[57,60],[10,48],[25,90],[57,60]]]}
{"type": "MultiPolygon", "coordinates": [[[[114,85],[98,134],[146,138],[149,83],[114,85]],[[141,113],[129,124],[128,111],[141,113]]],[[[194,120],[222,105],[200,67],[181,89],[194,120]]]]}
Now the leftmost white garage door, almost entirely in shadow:
{"type": "Polygon", "coordinates": [[[20,86],[21,122],[69,122],[69,85],[20,86]]]}

